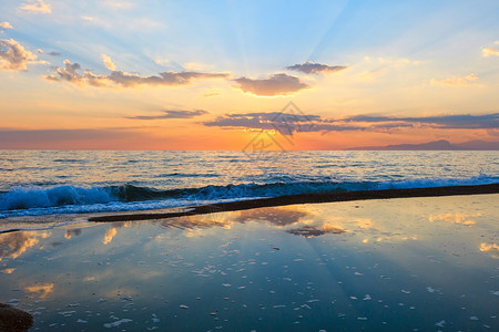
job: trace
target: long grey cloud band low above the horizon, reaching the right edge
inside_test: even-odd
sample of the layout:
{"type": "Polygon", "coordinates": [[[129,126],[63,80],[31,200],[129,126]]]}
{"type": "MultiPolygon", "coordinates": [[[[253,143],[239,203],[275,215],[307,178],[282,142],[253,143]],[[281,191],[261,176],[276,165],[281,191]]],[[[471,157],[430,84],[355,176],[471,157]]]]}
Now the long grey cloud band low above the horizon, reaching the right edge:
{"type": "Polygon", "coordinates": [[[288,114],[282,112],[262,112],[246,114],[225,114],[214,121],[205,122],[205,126],[217,126],[243,129],[276,131],[283,135],[305,132],[345,132],[368,131],[387,133],[406,128],[439,129],[497,129],[499,113],[485,115],[441,115],[427,117],[395,117],[356,115],[338,118],[326,118],[319,115],[288,114]]]}

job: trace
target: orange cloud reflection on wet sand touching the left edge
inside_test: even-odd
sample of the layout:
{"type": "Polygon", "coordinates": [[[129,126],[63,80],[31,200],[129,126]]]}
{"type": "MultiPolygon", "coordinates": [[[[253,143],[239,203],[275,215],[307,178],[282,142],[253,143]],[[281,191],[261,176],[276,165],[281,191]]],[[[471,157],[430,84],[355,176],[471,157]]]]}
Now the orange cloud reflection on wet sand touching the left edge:
{"type": "Polygon", "coordinates": [[[7,257],[18,258],[28,248],[35,246],[40,239],[45,239],[50,235],[48,231],[17,231],[0,235],[0,260],[7,257]]]}

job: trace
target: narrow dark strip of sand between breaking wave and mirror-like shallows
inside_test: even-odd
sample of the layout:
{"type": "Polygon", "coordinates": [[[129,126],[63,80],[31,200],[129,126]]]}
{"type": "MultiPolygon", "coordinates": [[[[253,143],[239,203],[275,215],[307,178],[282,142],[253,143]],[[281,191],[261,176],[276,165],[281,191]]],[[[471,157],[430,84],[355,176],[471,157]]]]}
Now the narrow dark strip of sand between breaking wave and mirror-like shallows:
{"type": "Polygon", "coordinates": [[[141,212],[141,214],[98,216],[88,218],[88,221],[91,222],[141,221],[141,220],[169,219],[175,217],[206,215],[214,212],[247,210],[264,207],[287,206],[295,204],[322,204],[322,203],[335,203],[335,201],[339,203],[352,200],[441,197],[441,196],[462,196],[462,195],[482,195],[482,194],[499,194],[499,184],[287,195],[279,197],[257,198],[241,201],[228,201],[211,205],[192,206],[187,207],[183,211],[175,211],[175,212],[152,212],[152,214],[141,212]]]}

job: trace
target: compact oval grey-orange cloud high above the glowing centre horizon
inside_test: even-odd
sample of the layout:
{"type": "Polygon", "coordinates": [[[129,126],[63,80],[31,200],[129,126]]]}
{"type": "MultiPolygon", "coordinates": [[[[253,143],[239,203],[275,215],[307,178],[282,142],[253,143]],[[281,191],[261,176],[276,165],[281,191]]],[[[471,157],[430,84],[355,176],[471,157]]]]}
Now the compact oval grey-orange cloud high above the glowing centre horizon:
{"type": "Polygon", "coordinates": [[[308,87],[298,77],[286,74],[274,74],[263,80],[240,77],[234,81],[240,84],[242,91],[262,96],[285,95],[308,87]]]}

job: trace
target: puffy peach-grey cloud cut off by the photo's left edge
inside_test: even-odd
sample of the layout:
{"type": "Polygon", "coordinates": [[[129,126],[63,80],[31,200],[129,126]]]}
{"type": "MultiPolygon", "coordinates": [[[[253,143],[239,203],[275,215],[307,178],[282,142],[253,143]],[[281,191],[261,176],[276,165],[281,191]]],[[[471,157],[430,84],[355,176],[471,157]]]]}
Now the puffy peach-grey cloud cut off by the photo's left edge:
{"type": "Polygon", "coordinates": [[[26,50],[20,43],[10,40],[0,40],[0,70],[26,71],[28,64],[37,63],[37,55],[26,50]]]}

